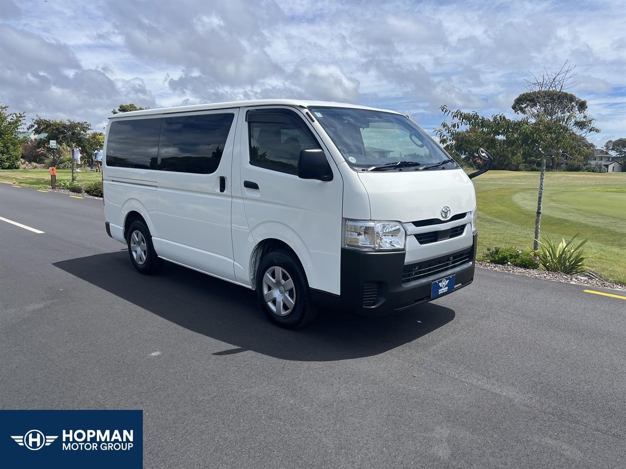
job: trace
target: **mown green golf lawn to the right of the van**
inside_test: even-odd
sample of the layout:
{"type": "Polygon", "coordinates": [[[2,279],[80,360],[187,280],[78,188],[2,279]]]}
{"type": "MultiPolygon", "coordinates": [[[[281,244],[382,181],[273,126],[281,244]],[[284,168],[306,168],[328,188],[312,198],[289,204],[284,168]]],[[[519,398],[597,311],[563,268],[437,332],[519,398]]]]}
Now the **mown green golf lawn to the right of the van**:
{"type": "MultiPolygon", "coordinates": [[[[490,171],[473,179],[478,198],[478,256],[492,246],[530,248],[539,173],[490,171]]],[[[626,173],[546,173],[541,236],[588,238],[589,265],[626,283],[626,173]]]]}

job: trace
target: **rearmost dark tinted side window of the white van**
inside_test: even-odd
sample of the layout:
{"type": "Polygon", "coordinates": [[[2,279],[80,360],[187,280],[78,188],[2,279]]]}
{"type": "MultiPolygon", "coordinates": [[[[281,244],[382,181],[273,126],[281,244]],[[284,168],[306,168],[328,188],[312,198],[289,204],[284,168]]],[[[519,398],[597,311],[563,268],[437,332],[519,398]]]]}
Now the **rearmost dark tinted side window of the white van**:
{"type": "Polygon", "coordinates": [[[108,128],[106,165],[156,169],[161,119],[113,121],[108,128]]]}

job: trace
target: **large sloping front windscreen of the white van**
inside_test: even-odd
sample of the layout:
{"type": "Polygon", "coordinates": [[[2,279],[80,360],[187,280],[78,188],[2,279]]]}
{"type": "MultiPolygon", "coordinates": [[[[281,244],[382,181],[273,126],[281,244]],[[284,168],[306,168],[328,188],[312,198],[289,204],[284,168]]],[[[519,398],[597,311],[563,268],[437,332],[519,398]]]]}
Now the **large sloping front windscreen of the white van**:
{"type": "Polygon", "coordinates": [[[357,169],[458,168],[422,129],[399,114],[349,108],[309,110],[357,169]]]}

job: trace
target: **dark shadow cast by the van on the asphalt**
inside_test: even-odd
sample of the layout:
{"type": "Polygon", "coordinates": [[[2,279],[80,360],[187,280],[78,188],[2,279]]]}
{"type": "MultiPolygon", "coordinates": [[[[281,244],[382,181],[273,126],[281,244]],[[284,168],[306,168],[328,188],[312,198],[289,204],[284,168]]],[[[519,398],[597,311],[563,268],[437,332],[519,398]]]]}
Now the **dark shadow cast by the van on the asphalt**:
{"type": "Polygon", "coordinates": [[[380,318],[321,310],[307,328],[291,331],[265,318],[254,291],[172,263],[158,275],[141,275],[128,253],[118,251],[53,265],[178,326],[233,345],[217,356],[252,350],[295,361],[360,358],[414,341],[454,319],[453,310],[432,303],[380,318]]]}

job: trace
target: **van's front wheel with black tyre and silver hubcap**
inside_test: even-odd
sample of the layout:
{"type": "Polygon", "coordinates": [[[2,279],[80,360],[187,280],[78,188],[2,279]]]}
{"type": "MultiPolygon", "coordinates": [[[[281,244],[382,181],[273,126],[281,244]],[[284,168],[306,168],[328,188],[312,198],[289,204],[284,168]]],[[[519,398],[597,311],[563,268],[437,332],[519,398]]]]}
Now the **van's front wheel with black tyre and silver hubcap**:
{"type": "Polygon", "coordinates": [[[314,320],[317,311],[311,304],[309,282],[292,253],[281,250],[265,255],[256,280],[261,308],[274,324],[297,329],[314,320]]]}

